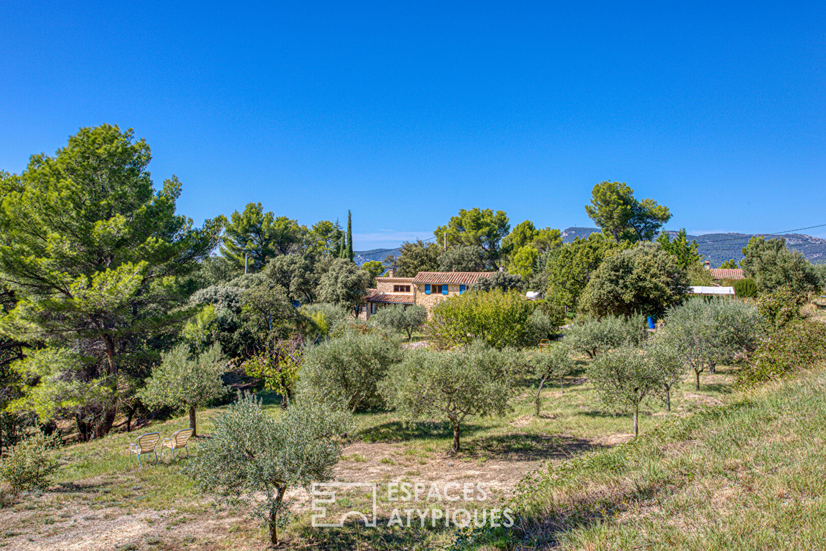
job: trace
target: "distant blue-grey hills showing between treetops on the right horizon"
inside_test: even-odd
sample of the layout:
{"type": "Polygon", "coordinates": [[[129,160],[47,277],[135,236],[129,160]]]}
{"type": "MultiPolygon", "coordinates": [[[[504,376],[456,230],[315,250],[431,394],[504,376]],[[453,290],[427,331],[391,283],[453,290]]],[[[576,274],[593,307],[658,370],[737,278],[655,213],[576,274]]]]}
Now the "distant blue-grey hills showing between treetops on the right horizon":
{"type": "MultiPolygon", "coordinates": [[[[563,231],[563,241],[570,243],[575,238],[585,239],[593,232],[599,232],[599,228],[571,227],[563,231]]],[[[672,235],[676,231],[670,231],[672,235]]],[[[728,234],[703,234],[689,235],[688,240],[697,240],[697,249],[706,260],[711,262],[711,266],[716,268],[725,260],[735,259],[739,261],[743,258],[743,247],[748,244],[748,239],[752,235],[728,233],[728,234]]],[[[785,237],[786,245],[790,249],[799,250],[809,262],[813,264],[823,264],[826,262],[826,239],[813,237],[804,234],[784,234],[766,235],[767,239],[773,237],[785,237]]]]}

